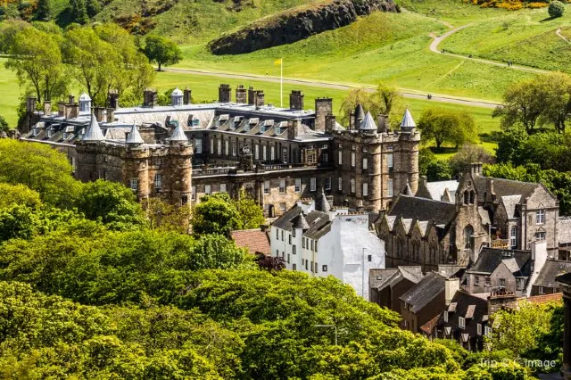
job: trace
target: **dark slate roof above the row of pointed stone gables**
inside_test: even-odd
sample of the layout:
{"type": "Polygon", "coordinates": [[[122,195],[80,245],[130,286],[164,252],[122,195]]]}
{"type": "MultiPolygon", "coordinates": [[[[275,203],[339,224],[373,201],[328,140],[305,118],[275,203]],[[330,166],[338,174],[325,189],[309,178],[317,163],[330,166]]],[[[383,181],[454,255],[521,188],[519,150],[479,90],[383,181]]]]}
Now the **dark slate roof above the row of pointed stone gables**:
{"type": "Polygon", "coordinates": [[[388,215],[421,221],[434,219],[437,225],[447,225],[456,215],[456,205],[400,194],[388,215]]]}

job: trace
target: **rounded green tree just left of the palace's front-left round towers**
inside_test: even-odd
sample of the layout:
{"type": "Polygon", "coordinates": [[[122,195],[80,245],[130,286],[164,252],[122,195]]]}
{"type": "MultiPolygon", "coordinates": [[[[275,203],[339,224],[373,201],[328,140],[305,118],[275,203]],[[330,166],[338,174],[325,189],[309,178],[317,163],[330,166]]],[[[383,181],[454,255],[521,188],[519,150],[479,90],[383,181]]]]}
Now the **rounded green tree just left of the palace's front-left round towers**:
{"type": "Polygon", "coordinates": [[[101,220],[112,229],[143,225],[144,213],[133,191],[112,181],[97,179],[82,184],[76,202],[87,219],[101,220]]]}

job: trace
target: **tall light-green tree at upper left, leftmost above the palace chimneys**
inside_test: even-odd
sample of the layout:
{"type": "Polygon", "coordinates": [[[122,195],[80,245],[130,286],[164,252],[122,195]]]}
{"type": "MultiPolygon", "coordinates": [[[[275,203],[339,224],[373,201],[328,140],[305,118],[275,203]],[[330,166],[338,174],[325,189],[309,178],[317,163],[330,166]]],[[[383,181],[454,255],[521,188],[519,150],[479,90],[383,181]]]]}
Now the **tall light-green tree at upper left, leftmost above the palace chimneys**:
{"type": "Polygon", "coordinates": [[[60,37],[35,28],[21,29],[13,38],[5,66],[16,72],[20,86],[30,84],[37,102],[64,95],[68,78],[62,64],[60,37]]]}

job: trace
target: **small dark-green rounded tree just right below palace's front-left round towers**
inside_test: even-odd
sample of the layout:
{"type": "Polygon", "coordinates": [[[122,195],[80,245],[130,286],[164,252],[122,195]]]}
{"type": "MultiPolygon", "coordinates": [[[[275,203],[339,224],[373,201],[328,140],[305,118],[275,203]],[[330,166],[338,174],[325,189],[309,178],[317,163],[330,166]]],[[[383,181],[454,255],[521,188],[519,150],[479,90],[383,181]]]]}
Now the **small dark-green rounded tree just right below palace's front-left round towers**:
{"type": "Polygon", "coordinates": [[[194,234],[229,235],[240,226],[238,211],[226,193],[205,195],[194,206],[192,226],[194,234]]]}

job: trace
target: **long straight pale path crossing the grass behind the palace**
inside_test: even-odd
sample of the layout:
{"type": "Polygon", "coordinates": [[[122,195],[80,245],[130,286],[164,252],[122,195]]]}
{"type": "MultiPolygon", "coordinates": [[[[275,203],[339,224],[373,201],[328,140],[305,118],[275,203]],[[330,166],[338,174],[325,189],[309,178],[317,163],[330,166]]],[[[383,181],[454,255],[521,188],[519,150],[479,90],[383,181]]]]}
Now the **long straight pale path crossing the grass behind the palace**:
{"type": "MultiPolygon", "coordinates": [[[[279,78],[277,77],[269,77],[263,75],[254,75],[254,74],[234,74],[228,72],[217,72],[217,71],[206,71],[206,70],[192,70],[192,69],[162,69],[163,71],[170,71],[170,72],[179,72],[182,74],[193,74],[193,75],[203,75],[209,77],[219,77],[219,78],[232,78],[232,79],[241,79],[241,80],[260,80],[263,82],[270,82],[270,83],[279,83],[279,78]]],[[[336,90],[350,90],[356,87],[363,87],[368,89],[369,91],[375,91],[375,86],[370,85],[348,85],[343,83],[335,83],[335,82],[319,82],[316,80],[310,79],[294,79],[294,78],[284,78],[284,83],[289,85],[303,85],[303,86],[311,86],[311,87],[321,87],[321,88],[332,88],[336,90]]],[[[416,90],[410,90],[408,88],[399,88],[401,91],[401,95],[411,99],[422,99],[426,100],[427,93],[422,93],[416,90]]],[[[460,97],[453,97],[450,95],[441,95],[441,94],[432,94],[433,102],[437,103],[451,103],[451,104],[462,104],[462,105],[469,105],[473,107],[483,107],[483,108],[491,108],[494,109],[500,103],[493,103],[488,102],[481,99],[471,99],[471,98],[460,98],[460,97]]]]}

